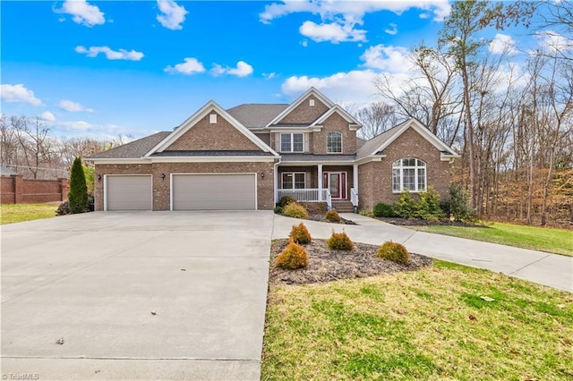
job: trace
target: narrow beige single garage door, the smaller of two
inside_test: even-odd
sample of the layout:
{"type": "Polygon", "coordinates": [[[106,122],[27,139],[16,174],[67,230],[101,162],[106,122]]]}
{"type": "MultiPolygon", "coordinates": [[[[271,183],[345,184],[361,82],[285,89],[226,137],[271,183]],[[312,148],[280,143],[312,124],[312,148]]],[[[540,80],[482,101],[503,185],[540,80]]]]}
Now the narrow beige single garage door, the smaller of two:
{"type": "Polygon", "coordinates": [[[106,176],[107,210],[151,210],[151,175],[106,176]]]}

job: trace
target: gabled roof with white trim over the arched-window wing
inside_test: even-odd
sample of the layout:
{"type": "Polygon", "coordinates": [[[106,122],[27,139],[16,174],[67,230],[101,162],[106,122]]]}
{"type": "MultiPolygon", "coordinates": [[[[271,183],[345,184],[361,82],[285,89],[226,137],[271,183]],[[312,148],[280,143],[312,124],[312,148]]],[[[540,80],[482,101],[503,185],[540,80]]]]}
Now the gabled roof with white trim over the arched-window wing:
{"type": "Polygon", "coordinates": [[[394,140],[397,140],[407,129],[412,128],[425,140],[428,140],[433,147],[440,152],[447,153],[448,157],[459,157],[458,153],[450,148],[446,143],[441,141],[430,130],[423,126],[423,124],[415,118],[410,118],[403,123],[398,124],[396,127],[384,131],[377,137],[372,138],[364,143],[363,147],[358,151],[358,157],[372,157],[377,153],[387,148],[394,140]]]}

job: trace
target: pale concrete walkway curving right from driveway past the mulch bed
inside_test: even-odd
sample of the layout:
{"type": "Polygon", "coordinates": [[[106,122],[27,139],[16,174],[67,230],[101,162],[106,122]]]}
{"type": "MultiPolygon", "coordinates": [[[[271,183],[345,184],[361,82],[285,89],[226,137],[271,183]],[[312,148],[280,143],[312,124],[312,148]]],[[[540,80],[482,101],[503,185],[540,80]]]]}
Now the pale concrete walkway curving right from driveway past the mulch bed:
{"type": "Polygon", "coordinates": [[[353,241],[381,245],[400,242],[417,254],[447,260],[461,265],[485,268],[494,272],[526,279],[560,290],[573,292],[573,258],[543,251],[518,249],[447,235],[416,232],[355,214],[341,214],[358,225],[328,224],[275,216],[273,239],[286,238],[293,224],[304,222],[312,237],[329,238],[332,230],[342,229],[353,241]]]}

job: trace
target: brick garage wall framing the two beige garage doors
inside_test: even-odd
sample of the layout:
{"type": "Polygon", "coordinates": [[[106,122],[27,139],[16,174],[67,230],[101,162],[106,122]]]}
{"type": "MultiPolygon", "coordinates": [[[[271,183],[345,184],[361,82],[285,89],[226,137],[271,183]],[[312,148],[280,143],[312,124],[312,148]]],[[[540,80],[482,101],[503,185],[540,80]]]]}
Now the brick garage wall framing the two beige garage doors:
{"type": "MultiPolygon", "coordinates": [[[[96,165],[96,179],[104,174],[153,174],[153,210],[170,208],[171,174],[257,174],[257,208],[272,209],[274,163],[154,163],[152,165],[96,165]],[[264,173],[264,178],[261,178],[264,173]],[[165,174],[165,180],[161,178],[165,174]]],[[[103,210],[103,180],[95,185],[96,210],[103,210]]]]}

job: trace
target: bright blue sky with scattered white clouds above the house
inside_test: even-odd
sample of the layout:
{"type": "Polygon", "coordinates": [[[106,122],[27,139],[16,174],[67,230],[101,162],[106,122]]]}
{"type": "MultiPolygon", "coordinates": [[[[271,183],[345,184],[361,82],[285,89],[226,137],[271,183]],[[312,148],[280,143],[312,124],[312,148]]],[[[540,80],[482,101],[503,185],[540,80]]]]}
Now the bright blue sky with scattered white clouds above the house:
{"type": "MultiPolygon", "coordinates": [[[[372,80],[410,76],[407,49],[435,44],[449,14],[442,0],[0,7],[3,114],[40,115],[54,136],[136,138],[171,130],[210,99],[289,103],[315,86],[338,103],[372,102],[372,80]]],[[[532,37],[492,38],[517,47],[532,37]]]]}

